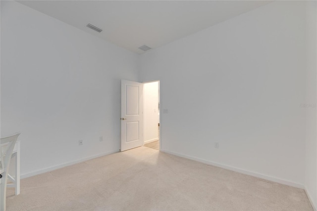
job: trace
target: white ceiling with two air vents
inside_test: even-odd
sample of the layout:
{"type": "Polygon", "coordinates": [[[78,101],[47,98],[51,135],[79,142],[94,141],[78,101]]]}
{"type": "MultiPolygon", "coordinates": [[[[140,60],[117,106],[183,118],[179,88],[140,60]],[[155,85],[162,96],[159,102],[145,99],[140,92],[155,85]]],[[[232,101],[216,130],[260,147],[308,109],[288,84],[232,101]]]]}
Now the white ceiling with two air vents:
{"type": "MultiPolygon", "coordinates": [[[[152,49],[271,1],[266,0],[21,0],[24,5],[129,51],[152,49]],[[98,33],[86,25],[103,29],[98,33]]],[[[151,50],[149,50],[151,51],[151,50]]]]}

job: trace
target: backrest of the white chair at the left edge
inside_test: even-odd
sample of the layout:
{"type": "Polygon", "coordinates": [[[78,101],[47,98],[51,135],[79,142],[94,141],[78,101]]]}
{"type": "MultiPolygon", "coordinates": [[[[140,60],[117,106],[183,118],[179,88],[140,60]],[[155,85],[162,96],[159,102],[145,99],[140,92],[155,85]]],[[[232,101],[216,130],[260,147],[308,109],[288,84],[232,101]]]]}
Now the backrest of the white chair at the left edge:
{"type": "Polygon", "coordinates": [[[0,168],[1,169],[7,169],[16,140],[18,139],[19,135],[20,133],[15,133],[11,136],[3,137],[0,139],[0,150],[1,150],[0,168]]]}

